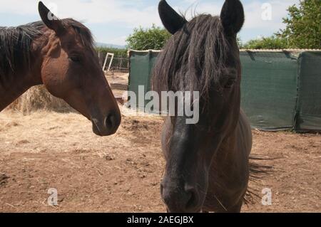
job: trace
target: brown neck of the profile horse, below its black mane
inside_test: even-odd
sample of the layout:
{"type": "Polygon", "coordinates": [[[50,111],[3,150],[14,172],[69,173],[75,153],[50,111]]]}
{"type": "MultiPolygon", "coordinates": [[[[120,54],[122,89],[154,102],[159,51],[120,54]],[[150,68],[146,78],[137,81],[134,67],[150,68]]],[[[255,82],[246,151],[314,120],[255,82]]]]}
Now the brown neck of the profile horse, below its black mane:
{"type": "Polygon", "coordinates": [[[26,90],[39,84],[31,75],[29,72],[0,75],[0,112],[26,90]]]}

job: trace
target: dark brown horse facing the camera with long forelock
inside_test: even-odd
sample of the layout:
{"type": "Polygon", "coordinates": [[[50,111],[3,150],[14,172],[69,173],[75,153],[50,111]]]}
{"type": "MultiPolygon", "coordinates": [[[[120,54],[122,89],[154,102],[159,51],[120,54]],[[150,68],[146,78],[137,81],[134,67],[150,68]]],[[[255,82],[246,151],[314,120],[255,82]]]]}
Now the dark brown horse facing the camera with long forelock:
{"type": "Polygon", "coordinates": [[[161,195],[170,212],[240,212],[248,189],[250,124],[240,110],[241,65],[236,35],[244,23],[239,0],[220,16],[186,21],[162,0],[163,25],[173,36],[153,70],[153,90],[199,91],[200,120],[168,117],[161,195]]]}

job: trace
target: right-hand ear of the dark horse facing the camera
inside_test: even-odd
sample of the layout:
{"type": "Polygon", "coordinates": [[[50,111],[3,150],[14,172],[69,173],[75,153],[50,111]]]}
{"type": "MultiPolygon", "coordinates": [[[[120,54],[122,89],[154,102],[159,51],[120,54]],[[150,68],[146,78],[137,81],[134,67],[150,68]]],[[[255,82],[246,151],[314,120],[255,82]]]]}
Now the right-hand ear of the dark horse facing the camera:
{"type": "Polygon", "coordinates": [[[220,19],[226,33],[238,33],[244,23],[244,9],[240,0],[225,0],[220,19]]]}

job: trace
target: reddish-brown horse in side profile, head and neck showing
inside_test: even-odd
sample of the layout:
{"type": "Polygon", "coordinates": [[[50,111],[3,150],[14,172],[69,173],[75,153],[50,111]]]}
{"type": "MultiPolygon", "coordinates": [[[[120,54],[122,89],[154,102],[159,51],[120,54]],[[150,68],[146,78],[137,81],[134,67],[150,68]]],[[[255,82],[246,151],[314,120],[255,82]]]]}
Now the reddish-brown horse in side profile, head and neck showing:
{"type": "Polygon", "coordinates": [[[91,120],[100,136],[116,132],[121,113],[91,32],[73,19],[59,20],[39,2],[42,21],[0,28],[0,111],[34,85],[68,102],[91,120]]]}

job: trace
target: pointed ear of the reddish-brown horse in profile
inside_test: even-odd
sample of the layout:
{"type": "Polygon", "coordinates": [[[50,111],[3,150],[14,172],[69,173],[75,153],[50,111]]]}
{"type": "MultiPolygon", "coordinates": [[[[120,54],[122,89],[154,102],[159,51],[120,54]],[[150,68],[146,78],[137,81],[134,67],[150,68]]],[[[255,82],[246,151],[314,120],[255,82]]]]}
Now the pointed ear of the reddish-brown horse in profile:
{"type": "Polygon", "coordinates": [[[38,10],[41,20],[48,28],[54,30],[57,34],[63,32],[64,28],[61,21],[41,1],[39,1],[38,10]]]}

